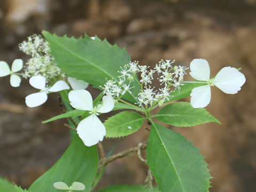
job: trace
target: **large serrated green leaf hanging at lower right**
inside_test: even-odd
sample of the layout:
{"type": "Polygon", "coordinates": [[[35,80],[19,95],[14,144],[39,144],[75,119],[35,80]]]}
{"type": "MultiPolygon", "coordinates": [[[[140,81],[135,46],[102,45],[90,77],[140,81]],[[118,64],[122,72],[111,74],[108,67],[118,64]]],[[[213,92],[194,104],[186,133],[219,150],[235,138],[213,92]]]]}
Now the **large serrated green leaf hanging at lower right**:
{"type": "Polygon", "coordinates": [[[147,164],[162,192],[209,191],[207,163],[198,148],[179,133],[152,122],[147,164]]]}

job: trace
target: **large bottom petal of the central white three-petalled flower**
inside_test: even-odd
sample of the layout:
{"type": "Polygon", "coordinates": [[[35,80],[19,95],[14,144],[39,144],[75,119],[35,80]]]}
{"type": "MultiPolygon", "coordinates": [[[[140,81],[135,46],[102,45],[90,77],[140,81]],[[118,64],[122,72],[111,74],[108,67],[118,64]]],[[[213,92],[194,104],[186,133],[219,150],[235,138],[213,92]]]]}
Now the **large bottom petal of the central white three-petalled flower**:
{"type": "Polygon", "coordinates": [[[91,147],[103,140],[106,129],[100,119],[92,114],[78,124],[77,134],[83,140],[84,145],[91,147]]]}

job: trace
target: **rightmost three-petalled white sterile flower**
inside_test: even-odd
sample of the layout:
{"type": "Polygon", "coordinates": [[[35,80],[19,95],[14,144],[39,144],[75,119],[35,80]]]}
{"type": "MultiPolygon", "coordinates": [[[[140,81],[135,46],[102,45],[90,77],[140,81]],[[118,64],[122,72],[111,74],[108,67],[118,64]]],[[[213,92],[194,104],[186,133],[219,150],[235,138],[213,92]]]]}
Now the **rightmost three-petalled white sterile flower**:
{"type": "Polygon", "coordinates": [[[209,63],[205,59],[194,59],[190,62],[189,73],[194,79],[204,81],[207,85],[195,87],[191,96],[191,105],[194,108],[206,107],[211,101],[211,86],[217,86],[227,94],[235,94],[245,83],[245,76],[234,67],[224,67],[210,79],[209,63]]]}

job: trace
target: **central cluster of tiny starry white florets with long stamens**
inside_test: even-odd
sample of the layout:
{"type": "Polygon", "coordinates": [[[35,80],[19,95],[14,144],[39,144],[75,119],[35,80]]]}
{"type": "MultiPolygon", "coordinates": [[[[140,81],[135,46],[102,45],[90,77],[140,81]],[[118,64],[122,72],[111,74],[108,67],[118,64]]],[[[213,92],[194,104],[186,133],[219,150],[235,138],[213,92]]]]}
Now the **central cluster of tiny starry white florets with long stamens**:
{"type": "Polygon", "coordinates": [[[104,90],[104,93],[111,95],[115,99],[121,98],[126,92],[130,92],[130,84],[134,79],[137,81],[136,74],[139,73],[138,83],[141,86],[140,93],[136,99],[138,100],[139,106],[142,104],[145,106],[152,106],[154,102],[157,102],[158,105],[163,105],[166,100],[169,100],[172,96],[170,93],[173,91],[171,87],[180,90],[182,84],[183,76],[186,74],[188,68],[183,66],[174,66],[172,67],[173,61],[170,60],[161,60],[159,61],[154,69],[149,69],[148,66],[138,65],[138,61],[130,62],[128,65],[125,65],[121,71],[118,71],[121,75],[119,81],[116,82],[113,79],[107,81],[104,87],[101,87],[104,90]],[[158,74],[158,81],[162,85],[162,88],[155,90],[155,87],[151,87],[153,81],[154,73],[158,74]]]}

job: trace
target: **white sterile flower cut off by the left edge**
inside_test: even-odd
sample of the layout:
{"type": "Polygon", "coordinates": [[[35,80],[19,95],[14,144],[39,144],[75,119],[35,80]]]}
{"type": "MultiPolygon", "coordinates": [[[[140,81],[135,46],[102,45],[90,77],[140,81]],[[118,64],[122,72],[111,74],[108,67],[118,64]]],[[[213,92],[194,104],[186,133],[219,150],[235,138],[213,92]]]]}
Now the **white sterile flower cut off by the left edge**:
{"type": "Polygon", "coordinates": [[[12,63],[12,69],[5,61],[0,61],[0,77],[11,75],[10,83],[13,87],[20,86],[21,78],[16,72],[22,69],[23,61],[21,59],[15,59],[12,63]]]}

